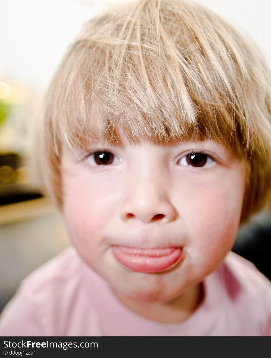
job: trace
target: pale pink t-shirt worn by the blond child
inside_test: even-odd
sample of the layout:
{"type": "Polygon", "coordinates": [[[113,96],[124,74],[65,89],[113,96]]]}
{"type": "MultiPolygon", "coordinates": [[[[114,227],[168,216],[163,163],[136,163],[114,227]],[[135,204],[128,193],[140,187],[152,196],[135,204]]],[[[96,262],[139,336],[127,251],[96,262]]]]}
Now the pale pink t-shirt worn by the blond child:
{"type": "Polygon", "coordinates": [[[179,324],[137,315],[70,247],[28,276],[0,319],[1,336],[270,336],[271,282],[230,252],[179,324]]]}

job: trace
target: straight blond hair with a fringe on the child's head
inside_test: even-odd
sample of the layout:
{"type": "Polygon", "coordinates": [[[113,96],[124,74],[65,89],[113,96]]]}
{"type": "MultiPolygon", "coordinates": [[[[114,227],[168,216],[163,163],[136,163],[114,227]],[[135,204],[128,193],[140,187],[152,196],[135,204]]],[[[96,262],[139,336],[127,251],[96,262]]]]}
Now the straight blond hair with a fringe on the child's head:
{"type": "Polygon", "coordinates": [[[37,136],[44,190],[61,207],[63,146],[210,139],[247,164],[245,221],[270,204],[270,86],[255,45],[210,10],[118,5],[85,24],[51,82],[37,136]]]}

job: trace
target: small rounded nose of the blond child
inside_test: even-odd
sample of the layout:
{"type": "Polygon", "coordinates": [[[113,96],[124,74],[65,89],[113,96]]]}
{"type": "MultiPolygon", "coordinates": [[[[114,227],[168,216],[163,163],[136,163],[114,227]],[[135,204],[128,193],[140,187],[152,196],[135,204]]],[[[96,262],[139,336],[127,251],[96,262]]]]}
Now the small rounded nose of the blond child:
{"type": "Polygon", "coordinates": [[[167,186],[159,178],[134,177],[125,185],[124,200],[120,211],[123,221],[139,220],[142,223],[155,221],[171,222],[175,209],[167,195],[167,186]]]}

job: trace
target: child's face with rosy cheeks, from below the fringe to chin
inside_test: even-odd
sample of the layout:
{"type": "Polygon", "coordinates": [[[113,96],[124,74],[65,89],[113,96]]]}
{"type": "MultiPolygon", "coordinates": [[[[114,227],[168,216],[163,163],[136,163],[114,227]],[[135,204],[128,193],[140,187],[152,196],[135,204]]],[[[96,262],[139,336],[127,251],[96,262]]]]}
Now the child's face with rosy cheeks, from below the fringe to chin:
{"type": "Polygon", "coordinates": [[[245,168],[222,145],[96,143],[79,159],[64,149],[62,179],[73,245],[120,297],[169,302],[232,248],[245,168]]]}

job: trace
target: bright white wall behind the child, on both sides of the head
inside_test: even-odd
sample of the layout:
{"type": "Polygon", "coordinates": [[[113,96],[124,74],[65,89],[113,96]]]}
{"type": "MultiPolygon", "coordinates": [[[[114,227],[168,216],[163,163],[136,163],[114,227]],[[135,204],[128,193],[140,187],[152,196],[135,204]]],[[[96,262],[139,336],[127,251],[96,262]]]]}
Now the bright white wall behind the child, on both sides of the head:
{"type": "MultiPolygon", "coordinates": [[[[1,0],[0,78],[41,91],[80,27],[114,0],[1,0]]],[[[268,0],[198,0],[256,41],[271,65],[268,0]]]]}

